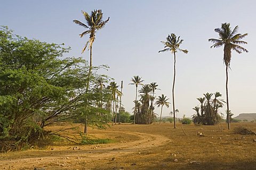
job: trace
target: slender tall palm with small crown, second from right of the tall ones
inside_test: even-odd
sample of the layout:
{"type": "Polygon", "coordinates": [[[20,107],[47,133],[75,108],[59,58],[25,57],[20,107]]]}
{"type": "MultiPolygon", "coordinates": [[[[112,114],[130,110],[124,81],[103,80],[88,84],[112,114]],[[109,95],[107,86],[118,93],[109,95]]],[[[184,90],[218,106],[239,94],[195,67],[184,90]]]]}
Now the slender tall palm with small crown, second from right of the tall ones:
{"type": "Polygon", "coordinates": [[[175,84],[175,75],[176,75],[176,53],[178,51],[181,51],[185,54],[188,53],[187,50],[180,49],[180,44],[182,44],[183,39],[180,39],[180,36],[177,39],[177,36],[175,34],[171,34],[167,36],[166,42],[162,42],[164,44],[164,50],[158,51],[158,52],[165,52],[165,51],[171,51],[171,53],[174,54],[174,73],[173,73],[173,85],[172,85],[172,107],[173,107],[173,122],[174,122],[174,128],[176,128],[176,121],[175,121],[175,105],[174,105],[174,84],[175,84]]]}

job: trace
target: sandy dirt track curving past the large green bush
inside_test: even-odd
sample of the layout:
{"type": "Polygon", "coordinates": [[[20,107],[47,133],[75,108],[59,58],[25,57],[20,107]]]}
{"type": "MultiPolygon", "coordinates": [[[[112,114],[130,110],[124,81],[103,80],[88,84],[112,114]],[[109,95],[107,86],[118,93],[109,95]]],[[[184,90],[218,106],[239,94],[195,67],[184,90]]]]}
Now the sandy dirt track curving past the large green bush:
{"type": "MultiPolygon", "coordinates": [[[[113,132],[106,131],[107,135],[113,132]]],[[[48,169],[93,169],[95,161],[114,162],[117,157],[124,157],[131,153],[139,153],[151,148],[164,145],[170,139],[162,135],[115,131],[119,136],[136,136],[137,140],[131,142],[82,145],[78,150],[74,146],[57,147],[51,150],[29,150],[23,152],[7,153],[0,157],[0,169],[33,169],[43,167],[48,169]],[[138,140],[139,139],[139,140],[138,140]],[[10,159],[11,158],[11,159],[10,159]]]]}

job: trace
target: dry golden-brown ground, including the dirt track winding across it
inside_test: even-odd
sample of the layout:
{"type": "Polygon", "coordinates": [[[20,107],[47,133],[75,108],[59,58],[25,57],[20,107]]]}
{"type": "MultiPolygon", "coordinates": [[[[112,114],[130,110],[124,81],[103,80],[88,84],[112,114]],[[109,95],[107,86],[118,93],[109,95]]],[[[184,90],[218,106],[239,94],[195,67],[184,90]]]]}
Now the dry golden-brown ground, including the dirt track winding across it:
{"type": "MultiPolygon", "coordinates": [[[[255,123],[231,125],[256,131],[255,123]]],[[[0,169],[255,169],[255,135],[221,132],[218,126],[183,125],[183,129],[186,136],[179,124],[173,129],[167,123],[89,129],[91,136],[115,142],[74,145],[62,141],[43,149],[1,153],[0,169]]]]}

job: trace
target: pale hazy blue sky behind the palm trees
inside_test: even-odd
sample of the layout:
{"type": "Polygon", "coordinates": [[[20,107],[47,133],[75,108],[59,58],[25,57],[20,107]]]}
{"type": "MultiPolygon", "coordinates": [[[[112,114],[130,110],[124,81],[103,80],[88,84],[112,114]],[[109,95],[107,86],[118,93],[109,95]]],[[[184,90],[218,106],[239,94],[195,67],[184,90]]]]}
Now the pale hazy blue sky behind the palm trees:
{"type": "MultiPolygon", "coordinates": [[[[163,49],[161,41],[175,33],[184,39],[180,46],[188,54],[177,53],[177,78],[175,107],[178,117],[191,116],[198,103],[196,98],[206,92],[219,91],[226,100],[225,65],[223,47],[210,48],[209,38],[218,38],[214,32],[221,23],[239,26],[239,33],[248,33],[243,45],[249,53],[233,52],[229,72],[230,110],[256,112],[256,11],[255,1],[1,1],[0,25],[8,26],[15,34],[36,38],[47,43],[65,43],[71,51],[66,56],[83,56],[89,60],[89,52],[81,54],[88,36],[78,35],[84,30],[73,23],[85,20],[81,10],[91,12],[101,9],[103,19],[110,17],[105,28],[96,34],[93,44],[93,65],[107,64],[103,73],[115,78],[118,85],[124,81],[123,104],[131,112],[135,98],[135,86],[128,85],[131,77],[139,75],[146,83],[157,82],[161,91],[172,102],[173,55],[158,53],[163,49]]],[[[169,116],[172,105],[163,108],[163,116],[169,116]]],[[[221,109],[224,113],[225,108],[221,109]]],[[[160,109],[156,108],[159,114],[160,109]]]]}

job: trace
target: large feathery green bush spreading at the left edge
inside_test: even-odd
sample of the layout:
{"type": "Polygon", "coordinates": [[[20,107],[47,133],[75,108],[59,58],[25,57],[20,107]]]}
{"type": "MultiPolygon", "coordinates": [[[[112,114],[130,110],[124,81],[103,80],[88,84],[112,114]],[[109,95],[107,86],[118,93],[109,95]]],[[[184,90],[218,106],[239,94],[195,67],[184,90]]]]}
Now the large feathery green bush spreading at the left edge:
{"type": "MultiPolygon", "coordinates": [[[[90,76],[82,58],[63,58],[69,48],[14,35],[0,27],[0,140],[13,141],[15,149],[46,133],[44,127],[77,117],[89,116],[89,124],[103,128],[104,115],[99,107],[109,99],[109,91],[93,88],[97,70],[90,76]]],[[[109,78],[105,78],[106,82],[109,78]]],[[[0,142],[0,143],[1,143],[0,142]]],[[[3,145],[0,144],[0,150],[3,145]]]]}

